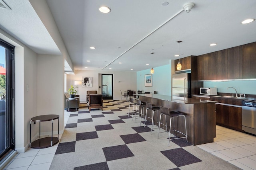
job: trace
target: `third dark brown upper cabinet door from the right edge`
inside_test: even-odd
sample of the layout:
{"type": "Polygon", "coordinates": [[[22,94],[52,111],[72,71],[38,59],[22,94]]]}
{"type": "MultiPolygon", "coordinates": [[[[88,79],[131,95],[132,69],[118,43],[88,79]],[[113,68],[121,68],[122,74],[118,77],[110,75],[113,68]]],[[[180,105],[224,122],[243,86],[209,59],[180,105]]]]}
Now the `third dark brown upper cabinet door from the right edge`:
{"type": "Polygon", "coordinates": [[[228,79],[228,49],[216,51],[216,80],[228,79]]]}

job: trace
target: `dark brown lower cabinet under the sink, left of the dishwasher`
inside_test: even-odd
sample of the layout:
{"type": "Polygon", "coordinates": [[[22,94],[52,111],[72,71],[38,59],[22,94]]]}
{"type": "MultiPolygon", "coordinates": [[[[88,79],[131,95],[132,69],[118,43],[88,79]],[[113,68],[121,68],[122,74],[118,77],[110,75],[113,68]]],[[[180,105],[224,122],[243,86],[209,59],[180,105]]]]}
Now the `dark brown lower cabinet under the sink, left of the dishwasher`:
{"type": "Polygon", "coordinates": [[[216,124],[242,131],[242,107],[216,104],[216,124]]]}

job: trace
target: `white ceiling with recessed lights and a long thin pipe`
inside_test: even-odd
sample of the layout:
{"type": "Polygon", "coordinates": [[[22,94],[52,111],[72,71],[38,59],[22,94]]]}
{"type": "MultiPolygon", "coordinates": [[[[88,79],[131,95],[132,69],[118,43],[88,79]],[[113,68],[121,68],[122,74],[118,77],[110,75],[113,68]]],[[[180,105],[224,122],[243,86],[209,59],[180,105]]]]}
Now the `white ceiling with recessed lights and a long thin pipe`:
{"type": "MultiPolygon", "coordinates": [[[[183,10],[187,0],[166,0],[167,6],[162,0],[46,2],[76,70],[139,71],[166,65],[178,59],[178,40],[180,58],[256,41],[256,21],[240,23],[256,18],[256,0],[193,0],[190,13],[183,10]],[[100,6],[111,12],[101,13],[100,6]]],[[[1,29],[36,53],[60,53],[28,0],[6,3],[12,10],[0,10],[1,29]]]]}

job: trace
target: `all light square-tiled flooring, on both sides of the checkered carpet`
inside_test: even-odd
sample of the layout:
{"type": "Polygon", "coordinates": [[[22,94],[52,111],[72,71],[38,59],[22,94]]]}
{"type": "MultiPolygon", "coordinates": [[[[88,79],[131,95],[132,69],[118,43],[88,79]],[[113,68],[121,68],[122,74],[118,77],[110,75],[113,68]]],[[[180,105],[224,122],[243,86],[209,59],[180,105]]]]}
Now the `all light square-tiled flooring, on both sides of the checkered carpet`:
{"type": "MultiPolygon", "coordinates": [[[[65,111],[65,125],[69,115],[70,113],[65,111]]],[[[4,170],[48,170],[57,147],[58,144],[45,149],[28,149],[24,153],[18,153],[4,170]]],[[[197,147],[243,170],[256,170],[255,136],[217,125],[214,143],[197,145],[197,147]]]]}

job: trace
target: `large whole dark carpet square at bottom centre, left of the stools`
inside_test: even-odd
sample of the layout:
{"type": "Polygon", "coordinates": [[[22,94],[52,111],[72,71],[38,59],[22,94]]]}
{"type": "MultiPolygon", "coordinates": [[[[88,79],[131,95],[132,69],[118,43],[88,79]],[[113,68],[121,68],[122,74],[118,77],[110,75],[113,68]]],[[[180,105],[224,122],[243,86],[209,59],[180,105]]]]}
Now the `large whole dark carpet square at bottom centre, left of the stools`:
{"type": "MultiPolygon", "coordinates": [[[[132,151],[126,145],[102,148],[107,161],[128,158],[134,156],[132,151]]],[[[120,165],[120,169],[122,165],[120,165]]]]}

